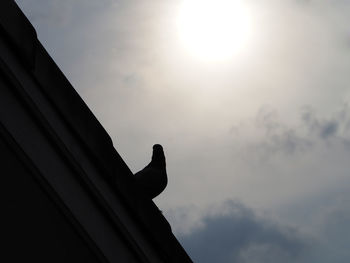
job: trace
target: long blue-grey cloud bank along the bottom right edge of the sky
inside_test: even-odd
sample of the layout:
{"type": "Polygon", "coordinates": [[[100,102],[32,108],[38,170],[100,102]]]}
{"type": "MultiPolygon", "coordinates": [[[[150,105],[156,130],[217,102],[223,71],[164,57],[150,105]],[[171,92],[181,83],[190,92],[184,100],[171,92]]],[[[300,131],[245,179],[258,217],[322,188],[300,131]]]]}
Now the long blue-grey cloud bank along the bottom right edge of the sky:
{"type": "Polygon", "coordinates": [[[297,227],[226,201],[219,213],[207,212],[192,231],[177,236],[196,263],[345,263],[350,257],[349,197],[344,187],[337,194],[318,193],[315,200],[285,207],[289,216],[300,217],[297,227]]]}

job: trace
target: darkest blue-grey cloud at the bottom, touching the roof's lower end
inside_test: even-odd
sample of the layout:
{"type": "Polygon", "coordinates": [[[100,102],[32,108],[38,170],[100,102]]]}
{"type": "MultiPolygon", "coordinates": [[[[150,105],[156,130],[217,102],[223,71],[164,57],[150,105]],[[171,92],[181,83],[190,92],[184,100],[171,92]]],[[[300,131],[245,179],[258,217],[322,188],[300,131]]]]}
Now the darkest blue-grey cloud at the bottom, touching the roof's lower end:
{"type": "Polygon", "coordinates": [[[295,229],[261,219],[240,203],[227,202],[226,211],[180,237],[194,262],[296,262],[307,247],[295,229]]]}

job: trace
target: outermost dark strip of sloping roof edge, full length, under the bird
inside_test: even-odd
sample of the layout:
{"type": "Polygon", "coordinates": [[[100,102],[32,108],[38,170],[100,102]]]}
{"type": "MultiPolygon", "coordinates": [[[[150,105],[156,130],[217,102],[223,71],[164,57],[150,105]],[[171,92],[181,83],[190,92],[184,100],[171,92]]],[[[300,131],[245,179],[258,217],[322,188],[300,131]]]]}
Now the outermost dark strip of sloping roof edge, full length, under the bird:
{"type": "Polygon", "coordinates": [[[114,149],[110,136],[38,41],[29,20],[13,0],[1,0],[1,7],[4,8],[0,8],[0,30],[5,33],[9,46],[19,54],[42,92],[99,164],[105,179],[115,185],[152,239],[174,260],[169,262],[180,262],[180,259],[182,262],[192,262],[156,205],[151,200],[140,200],[135,193],[131,182],[132,172],[114,149]],[[157,231],[159,228],[162,231],[157,231]]]}

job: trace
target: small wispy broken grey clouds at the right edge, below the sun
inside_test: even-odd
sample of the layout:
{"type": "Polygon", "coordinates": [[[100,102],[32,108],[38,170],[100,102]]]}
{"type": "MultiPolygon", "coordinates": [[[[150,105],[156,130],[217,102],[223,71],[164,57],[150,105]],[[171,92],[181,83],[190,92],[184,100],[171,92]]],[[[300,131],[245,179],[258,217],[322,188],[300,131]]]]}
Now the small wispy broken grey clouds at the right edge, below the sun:
{"type": "Polygon", "coordinates": [[[320,117],[314,109],[305,106],[300,111],[299,121],[293,125],[281,119],[276,110],[264,106],[255,120],[235,125],[234,131],[232,136],[237,138],[253,133],[255,139],[248,139],[241,148],[264,159],[281,153],[303,153],[322,145],[349,148],[350,111],[345,103],[329,116],[320,117]]]}

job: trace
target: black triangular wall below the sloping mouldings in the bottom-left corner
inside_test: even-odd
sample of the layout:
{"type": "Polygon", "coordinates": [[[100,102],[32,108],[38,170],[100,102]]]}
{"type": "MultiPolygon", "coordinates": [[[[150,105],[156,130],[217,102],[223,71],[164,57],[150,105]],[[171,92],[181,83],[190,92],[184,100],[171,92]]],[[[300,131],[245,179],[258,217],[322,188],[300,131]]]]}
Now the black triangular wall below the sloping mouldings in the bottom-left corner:
{"type": "Polygon", "coordinates": [[[99,253],[89,248],[75,226],[57,209],[45,186],[36,180],[35,170],[20,160],[9,140],[0,139],[0,191],[4,198],[1,240],[6,248],[2,250],[2,260],[100,262],[99,253]]]}

